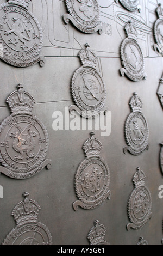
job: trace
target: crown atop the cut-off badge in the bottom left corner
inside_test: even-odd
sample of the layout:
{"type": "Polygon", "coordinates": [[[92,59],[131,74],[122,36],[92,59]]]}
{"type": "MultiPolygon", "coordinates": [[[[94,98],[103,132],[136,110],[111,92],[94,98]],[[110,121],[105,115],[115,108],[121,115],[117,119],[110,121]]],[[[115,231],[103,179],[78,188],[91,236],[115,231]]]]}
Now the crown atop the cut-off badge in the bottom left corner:
{"type": "Polygon", "coordinates": [[[24,221],[36,222],[39,210],[41,209],[40,205],[34,200],[28,199],[28,192],[24,192],[22,196],[24,200],[15,206],[11,215],[14,216],[16,224],[22,224],[24,221]]]}

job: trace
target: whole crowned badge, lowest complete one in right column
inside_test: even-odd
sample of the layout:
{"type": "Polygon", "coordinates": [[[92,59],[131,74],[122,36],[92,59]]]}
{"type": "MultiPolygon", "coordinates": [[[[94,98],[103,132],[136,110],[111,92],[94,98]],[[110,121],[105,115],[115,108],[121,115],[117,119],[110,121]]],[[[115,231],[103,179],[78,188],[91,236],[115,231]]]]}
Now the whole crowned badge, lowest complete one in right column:
{"type": "Polygon", "coordinates": [[[127,224],[127,230],[130,228],[140,229],[152,217],[152,199],[151,193],[145,186],[145,173],[137,167],[133,176],[134,190],[128,201],[128,217],[130,223],[127,224]]]}

